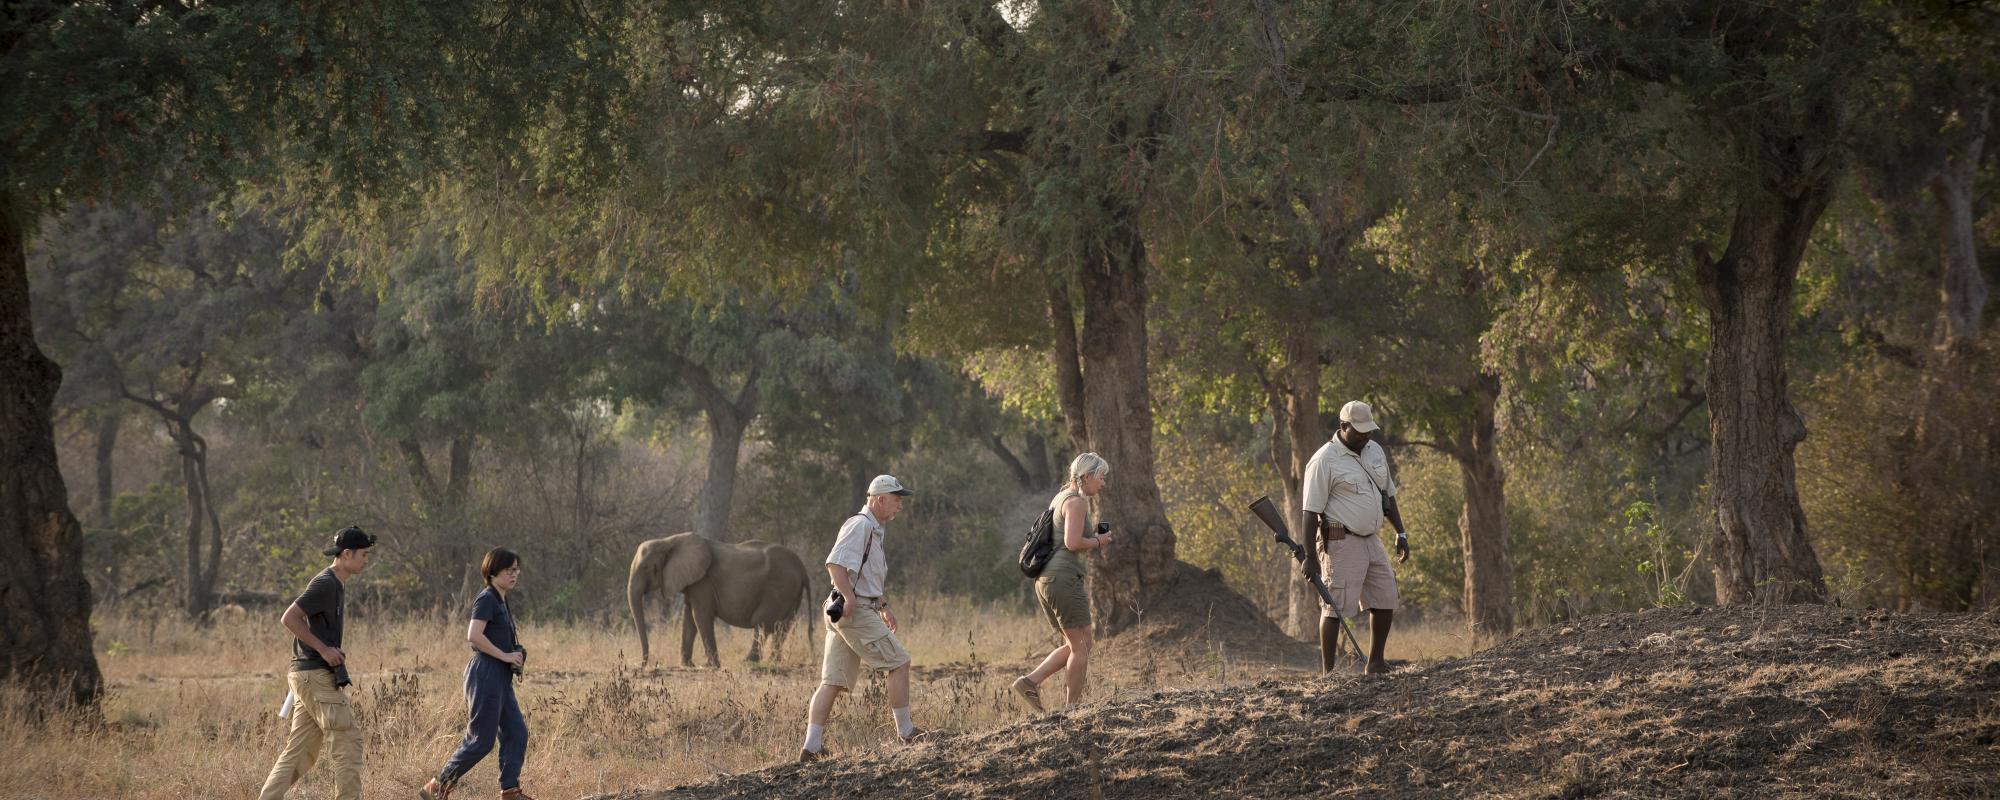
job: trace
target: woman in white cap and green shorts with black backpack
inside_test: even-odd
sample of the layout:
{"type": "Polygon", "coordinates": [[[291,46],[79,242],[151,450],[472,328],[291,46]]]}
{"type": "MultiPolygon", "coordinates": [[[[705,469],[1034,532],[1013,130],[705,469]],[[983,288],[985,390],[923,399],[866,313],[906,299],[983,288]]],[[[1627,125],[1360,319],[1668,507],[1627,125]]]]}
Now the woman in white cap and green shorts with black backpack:
{"type": "Polygon", "coordinates": [[[1070,462],[1070,480],[1048,500],[1056,512],[1054,524],[1062,532],[1062,546],[1048,558],[1048,566],[1034,578],[1034,596],[1042,600],[1042,614],[1048,624],[1062,634],[1062,646],[1042,658],[1042,666],[1014,680],[1014,694],[1028,708],[1042,710],[1042,682],[1056,672],[1066,672],[1062,684],[1068,688],[1070,704],[1084,702],[1084,684],[1090,680],[1090,594],[1084,590],[1084,554],[1112,544],[1108,526],[1098,524],[1098,492],[1112,474],[1104,456],[1086,452],[1070,462]]]}

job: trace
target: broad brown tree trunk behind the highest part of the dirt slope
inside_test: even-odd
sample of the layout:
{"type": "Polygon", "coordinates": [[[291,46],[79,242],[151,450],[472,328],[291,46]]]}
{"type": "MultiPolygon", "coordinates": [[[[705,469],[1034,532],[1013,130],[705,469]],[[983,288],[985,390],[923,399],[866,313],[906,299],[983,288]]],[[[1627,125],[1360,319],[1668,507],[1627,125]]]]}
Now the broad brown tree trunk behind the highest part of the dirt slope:
{"type": "Polygon", "coordinates": [[[1710,326],[1716,600],[1726,606],[1826,598],[1798,504],[1792,450],[1806,440],[1806,422],[1788,394],[1786,342],[1798,262],[1832,196],[1832,176],[1822,170],[1798,184],[1784,192],[1746,186],[1722,258],[1696,252],[1710,326]]]}

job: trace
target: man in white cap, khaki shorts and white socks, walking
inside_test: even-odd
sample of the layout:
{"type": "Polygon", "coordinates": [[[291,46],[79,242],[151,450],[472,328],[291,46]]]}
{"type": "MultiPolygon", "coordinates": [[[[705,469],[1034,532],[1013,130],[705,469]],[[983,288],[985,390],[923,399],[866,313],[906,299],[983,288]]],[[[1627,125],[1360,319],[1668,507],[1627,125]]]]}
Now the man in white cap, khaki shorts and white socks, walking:
{"type": "Polygon", "coordinates": [[[896,476],[876,476],[868,482],[868,504],[840,526],[840,538],[826,554],[826,574],[834,578],[842,608],[840,618],[826,626],[820,688],[812,692],[812,706],[806,710],[806,746],[798,752],[802,764],[826,754],[826,718],[834,710],[834,700],[854,688],[864,664],[888,672],[888,708],[896,714],[896,736],[906,744],[924,736],[924,730],[910,722],[910,652],[896,640],[896,614],[890,614],[882,596],[882,582],[888,578],[882,524],[902,512],[906,496],[910,490],[896,476]]]}

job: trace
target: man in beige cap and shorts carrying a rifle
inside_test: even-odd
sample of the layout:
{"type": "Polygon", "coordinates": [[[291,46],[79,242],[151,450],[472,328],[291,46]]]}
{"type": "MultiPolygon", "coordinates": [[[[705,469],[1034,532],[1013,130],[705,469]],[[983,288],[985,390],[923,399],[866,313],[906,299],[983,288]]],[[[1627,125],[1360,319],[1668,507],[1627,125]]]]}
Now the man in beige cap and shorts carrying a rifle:
{"type": "Polygon", "coordinates": [[[1396,570],[1382,546],[1382,522],[1396,526],[1396,554],[1410,560],[1410,536],[1396,510],[1396,478],[1388,472],[1388,456],[1372,442],[1374,410],[1352,400],[1340,406],[1340,428],[1306,462],[1306,562],[1304,572],[1320,574],[1336,606],[1320,612],[1320,668],[1334,670],[1340,650],[1340,618],[1372,614],[1372,646],[1368,672],[1388,672],[1382,648],[1396,618],[1396,570]],[[1326,570],[1320,570],[1326,554],[1326,570]]]}

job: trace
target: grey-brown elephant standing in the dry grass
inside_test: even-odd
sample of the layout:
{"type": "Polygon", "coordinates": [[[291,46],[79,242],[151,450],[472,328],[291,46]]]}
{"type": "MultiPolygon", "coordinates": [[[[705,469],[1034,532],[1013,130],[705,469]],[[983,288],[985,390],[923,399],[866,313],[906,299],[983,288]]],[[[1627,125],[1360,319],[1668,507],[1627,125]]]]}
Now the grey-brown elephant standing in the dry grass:
{"type": "Polygon", "coordinates": [[[772,658],[784,648],[792,630],[792,614],[806,618],[806,640],[812,640],[812,582],[806,562],[782,544],[748,540],[728,544],[694,532],[640,542],[632,554],[632,574],[626,578],[626,600],[638,626],[640,664],[652,658],[646,642],[646,598],[660,592],[662,600],[680,594],[680,664],[694,666],[694,632],[702,632],[708,666],[720,668],[716,656],[716,618],[738,628],[754,628],[750,660],[766,638],[772,658]]]}

